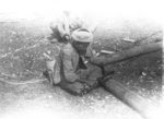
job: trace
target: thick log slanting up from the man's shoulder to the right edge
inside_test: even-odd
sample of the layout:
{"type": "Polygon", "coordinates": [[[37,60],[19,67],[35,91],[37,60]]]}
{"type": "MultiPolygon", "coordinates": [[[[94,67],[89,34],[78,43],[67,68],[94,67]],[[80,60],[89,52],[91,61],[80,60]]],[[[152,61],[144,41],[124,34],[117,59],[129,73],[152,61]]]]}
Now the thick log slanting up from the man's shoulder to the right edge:
{"type": "Polygon", "coordinates": [[[162,41],[130,48],[124,51],[116,52],[113,56],[107,55],[107,56],[101,56],[101,57],[93,57],[91,58],[91,63],[97,64],[97,66],[105,66],[105,64],[124,61],[129,58],[147,55],[147,53],[159,51],[159,50],[162,50],[162,41]]]}

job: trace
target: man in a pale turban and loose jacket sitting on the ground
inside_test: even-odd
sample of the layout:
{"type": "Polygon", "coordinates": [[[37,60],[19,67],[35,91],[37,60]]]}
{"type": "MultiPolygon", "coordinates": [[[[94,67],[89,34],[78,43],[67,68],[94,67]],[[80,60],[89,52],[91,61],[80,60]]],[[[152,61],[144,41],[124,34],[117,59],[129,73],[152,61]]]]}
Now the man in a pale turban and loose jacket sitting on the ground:
{"type": "Polygon", "coordinates": [[[93,34],[87,29],[80,28],[72,33],[71,41],[63,45],[54,69],[47,66],[51,71],[49,80],[52,85],[74,95],[83,95],[97,87],[102,70],[90,63],[91,57],[95,57],[89,47],[92,40],[93,34]]]}

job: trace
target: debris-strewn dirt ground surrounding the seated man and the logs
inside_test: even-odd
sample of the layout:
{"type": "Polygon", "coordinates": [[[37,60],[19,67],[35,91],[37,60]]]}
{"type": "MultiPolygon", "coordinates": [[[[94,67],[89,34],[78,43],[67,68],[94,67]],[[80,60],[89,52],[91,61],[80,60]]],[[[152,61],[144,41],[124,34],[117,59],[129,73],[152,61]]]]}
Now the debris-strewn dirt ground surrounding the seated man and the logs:
{"type": "MultiPolygon", "coordinates": [[[[109,19],[104,16],[97,20],[99,26],[92,45],[96,51],[120,51],[162,40],[162,33],[157,33],[136,45],[124,41],[126,37],[140,40],[162,31],[162,26],[142,19],[109,19]]],[[[8,19],[0,21],[1,119],[142,119],[103,88],[83,97],[74,97],[59,87],[50,86],[42,75],[45,70],[43,52],[51,50],[51,55],[56,57],[60,44],[46,43],[50,33],[49,23],[39,22],[8,19]]],[[[162,97],[162,50],[106,66],[107,71],[115,70],[114,80],[156,104],[161,103],[162,97]]]]}

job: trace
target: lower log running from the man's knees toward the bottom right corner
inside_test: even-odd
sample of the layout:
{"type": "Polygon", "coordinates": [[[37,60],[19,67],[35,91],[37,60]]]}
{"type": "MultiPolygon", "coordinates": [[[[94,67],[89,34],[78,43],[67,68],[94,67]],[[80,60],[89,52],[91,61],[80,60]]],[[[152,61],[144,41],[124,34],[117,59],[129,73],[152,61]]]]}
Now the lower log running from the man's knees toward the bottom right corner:
{"type": "Polygon", "coordinates": [[[119,100],[131,107],[133,110],[139,112],[143,118],[150,119],[150,116],[147,112],[150,108],[150,104],[143,97],[114,80],[101,83],[101,86],[119,100]]]}

